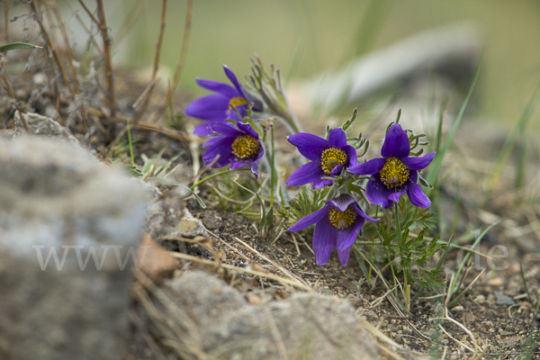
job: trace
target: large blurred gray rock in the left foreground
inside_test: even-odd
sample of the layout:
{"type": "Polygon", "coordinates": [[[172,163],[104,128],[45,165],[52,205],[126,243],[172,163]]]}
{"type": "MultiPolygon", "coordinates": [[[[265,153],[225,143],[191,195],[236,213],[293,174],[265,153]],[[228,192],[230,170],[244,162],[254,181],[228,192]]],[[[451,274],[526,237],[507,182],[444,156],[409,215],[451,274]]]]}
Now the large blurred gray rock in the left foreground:
{"type": "Polygon", "coordinates": [[[0,169],[0,358],[121,358],[143,191],[38,137],[0,140],[0,169]]]}

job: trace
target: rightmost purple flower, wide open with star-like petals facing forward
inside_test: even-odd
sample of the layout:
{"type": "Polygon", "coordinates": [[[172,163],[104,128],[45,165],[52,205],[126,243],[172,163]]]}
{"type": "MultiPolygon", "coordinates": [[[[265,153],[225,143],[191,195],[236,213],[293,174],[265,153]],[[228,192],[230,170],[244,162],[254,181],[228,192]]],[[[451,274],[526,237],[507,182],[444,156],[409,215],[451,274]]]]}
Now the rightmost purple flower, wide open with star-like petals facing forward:
{"type": "Polygon", "coordinates": [[[349,173],[372,175],[365,189],[367,200],[388,209],[392,202],[399,202],[407,193],[410,202],[427,209],[431,202],[419,184],[418,171],[431,163],[435,153],[423,157],[409,157],[410,143],[407,133],[400,124],[394,123],[386,133],[381,155],[365,163],[351,166],[349,173]]]}

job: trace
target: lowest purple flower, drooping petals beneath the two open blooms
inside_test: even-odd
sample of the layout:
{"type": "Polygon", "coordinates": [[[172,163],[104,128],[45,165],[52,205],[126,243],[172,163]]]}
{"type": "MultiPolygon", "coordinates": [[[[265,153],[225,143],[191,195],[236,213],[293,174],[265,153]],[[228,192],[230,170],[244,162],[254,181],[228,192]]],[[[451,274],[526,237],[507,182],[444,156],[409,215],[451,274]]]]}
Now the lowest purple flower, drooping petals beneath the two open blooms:
{"type": "Polygon", "coordinates": [[[315,224],[313,252],[317,264],[328,263],[332,251],[338,247],[339,261],[346,266],[351,247],[365,220],[379,221],[367,216],[351,195],[343,193],[326,202],[326,206],[320,210],[303,217],[289,231],[302,230],[315,224]]]}

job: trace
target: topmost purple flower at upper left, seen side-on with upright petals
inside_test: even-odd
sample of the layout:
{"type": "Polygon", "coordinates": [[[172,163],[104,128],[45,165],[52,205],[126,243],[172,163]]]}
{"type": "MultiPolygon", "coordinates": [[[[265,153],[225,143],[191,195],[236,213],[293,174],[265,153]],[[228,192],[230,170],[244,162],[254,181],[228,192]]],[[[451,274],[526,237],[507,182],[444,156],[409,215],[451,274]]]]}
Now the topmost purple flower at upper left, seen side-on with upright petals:
{"type": "MultiPolygon", "coordinates": [[[[247,115],[247,105],[249,103],[253,103],[253,111],[259,112],[262,110],[261,103],[252,94],[247,93],[244,87],[238,83],[237,76],[229,67],[223,65],[223,69],[234,86],[214,80],[196,79],[199,86],[215,94],[202,96],[187,105],[184,110],[186,115],[205,121],[225,121],[227,119],[241,121],[242,119],[238,117],[238,113],[234,109],[239,112],[242,118],[247,115]]],[[[206,127],[207,125],[207,123],[203,123],[196,126],[193,133],[202,136],[211,135],[210,130],[206,127]]]]}

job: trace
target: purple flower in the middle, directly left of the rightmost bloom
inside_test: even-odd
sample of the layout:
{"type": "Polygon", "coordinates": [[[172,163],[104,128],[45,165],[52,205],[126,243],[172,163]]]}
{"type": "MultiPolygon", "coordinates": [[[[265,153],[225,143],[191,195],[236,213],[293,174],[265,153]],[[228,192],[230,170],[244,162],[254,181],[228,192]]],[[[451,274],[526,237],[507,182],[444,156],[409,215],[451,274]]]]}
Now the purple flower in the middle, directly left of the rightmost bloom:
{"type": "Polygon", "coordinates": [[[356,149],[347,145],[347,135],[341,128],[332,129],[329,139],[322,139],[307,132],[299,132],[288,138],[302,156],[311,160],[302,165],[287,180],[289,186],[310,184],[313,189],[332,184],[331,180],[323,180],[325,176],[335,176],[345,166],[353,166],[358,162],[356,149]]]}

